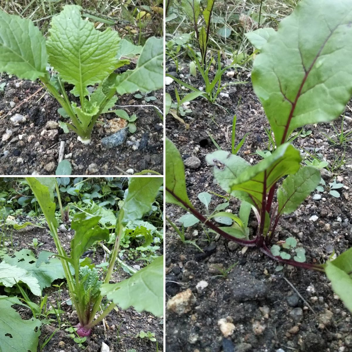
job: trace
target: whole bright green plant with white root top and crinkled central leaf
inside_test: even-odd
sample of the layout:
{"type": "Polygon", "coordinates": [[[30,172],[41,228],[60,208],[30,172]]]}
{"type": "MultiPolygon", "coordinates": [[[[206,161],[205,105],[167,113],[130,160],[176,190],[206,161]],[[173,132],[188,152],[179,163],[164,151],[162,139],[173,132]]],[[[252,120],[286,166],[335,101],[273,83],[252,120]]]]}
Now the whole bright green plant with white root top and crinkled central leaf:
{"type": "Polygon", "coordinates": [[[96,30],[81,18],[80,6],[64,6],[52,18],[47,39],[29,19],[0,11],[0,23],[0,71],[32,81],[39,78],[62,106],[61,114],[70,118],[66,128],[85,144],[100,114],[114,106],[116,93],[148,92],[163,86],[162,39],[149,38],[141,50],[116,31],[96,30]],[[140,54],[136,68],[114,73],[129,63],[121,59],[129,54],[140,54]],[[50,76],[48,65],[58,74],[50,76]],[[79,97],[80,106],[69,100],[65,82],[73,84],[71,93],[79,97]],[[95,84],[98,87],[91,93],[95,84]]]}

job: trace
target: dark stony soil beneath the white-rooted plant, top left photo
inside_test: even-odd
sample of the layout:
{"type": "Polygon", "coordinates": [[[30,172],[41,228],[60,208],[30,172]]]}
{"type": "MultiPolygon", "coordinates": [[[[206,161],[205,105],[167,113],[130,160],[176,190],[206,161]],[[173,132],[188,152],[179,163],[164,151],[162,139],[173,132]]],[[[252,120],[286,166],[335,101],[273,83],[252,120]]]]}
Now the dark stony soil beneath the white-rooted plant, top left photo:
{"type": "MultiPolygon", "coordinates": [[[[104,124],[115,114],[104,114],[92,133],[92,142],[84,145],[77,140],[74,132],[64,133],[62,128],[46,127],[48,121],[63,120],[57,113],[59,103],[45,89],[40,89],[39,82],[21,81],[16,77],[2,75],[0,84],[6,82],[0,90],[0,136],[7,130],[12,135],[3,141],[0,138],[0,174],[1,175],[52,175],[58,164],[59,146],[65,141],[64,158],[72,166],[73,175],[121,175],[140,172],[144,169],[163,173],[163,124],[154,108],[126,107],[131,116],[137,115],[134,122],[137,131],[128,133],[125,142],[111,149],[101,145],[101,139],[110,133],[104,124]],[[24,102],[25,101],[25,102],[24,102]],[[13,111],[18,106],[17,109],[13,111]],[[10,112],[11,111],[11,112],[10,112]],[[15,114],[23,115],[26,120],[14,126],[10,118],[15,114]]],[[[72,88],[66,87],[67,91],[72,88]]],[[[120,96],[118,105],[152,104],[162,110],[163,92],[158,90],[149,94],[157,98],[146,103],[143,99],[134,98],[134,94],[120,96]]],[[[72,101],[75,97],[70,96],[72,101]]],[[[122,107],[116,107],[122,109],[122,107]]]]}

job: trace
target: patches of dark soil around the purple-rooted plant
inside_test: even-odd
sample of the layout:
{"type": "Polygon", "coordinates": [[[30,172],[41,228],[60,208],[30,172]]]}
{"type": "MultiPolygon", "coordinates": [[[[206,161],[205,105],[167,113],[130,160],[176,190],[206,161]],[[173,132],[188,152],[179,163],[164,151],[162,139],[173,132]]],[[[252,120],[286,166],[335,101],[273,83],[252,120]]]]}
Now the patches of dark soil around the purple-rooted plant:
{"type": "MultiPolygon", "coordinates": [[[[31,221],[36,223],[36,219],[25,218],[20,216],[17,218],[17,221],[31,221]]],[[[40,251],[52,251],[56,252],[54,240],[49,234],[49,230],[46,228],[38,228],[34,226],[27,226],[23,230],[13,231],[12,233],[12,246],[10,244],[10,234],[8,233],[7,241],[7,253],[11,254],[14,251],[19,251],[23,248],[31,249],[34,254],[39,254],[40,251]],[[34,251],[32,247],[29,247],[29,243],[32,242],[33,238],[38,238],[38,243],[43,243],[42,246],[37,247],[37,251],[34,251]]],[[[74,232],[61,232],[59,233],[59,238],[63,247],[68,250],[70,246],[71,236],[74,235],[74,232]]],[[[3,238],[4,239],[4,238],[3,238]]],[[[161,253],[160,253],[161,254],[161,253]]],[[[105,252],[100,247],[96,247],[96,251],[88,254],[92,259],[92,262],[95,264],[100,264],[106,261],[105,252]]],[[[143,266],[143,262],[135,262],[133,260],[125,260],[125,263],[132,265],[143,266]]],[[[115,267],[116,269],[116,267],[115,267]]],[[[122,279],[128,278],[126,272],[124,272],[120,267],[115,270],[111,278],[111,283],[119,282],[122,279]]],[[[53,284],[60,284],[62,280],[56,280],[53,284]]],[[[61,301],[65,301],[69,298],[68,291],[65,287],[65,284],[61,286],[63,289],[61,293],[61,301]]],[[[58,288],[49,287],[43,290],[43,295],[48,294],[48,302],[53,304],[57,308],[57,299],[59,299],[58,288]]],[[[3,290],[0,289],[0,294],[4,294],[3,290]]],[[[33,302],[40,304],[37,296],[30,294],[30,298],[33,302]]],[[[14,305],[13,308],[17,308],[20,312],[22,319],[32,318],[32,313],[29,309],[14,305]]],[[[62,317],[62,327],[54,334],[54,337],[46,344],[43,348],[43,352],[78,352],[82,349],[78,346],[72,338],[69,337],[69,333],[65,331],[65,328],[68,328],[68,322],[71,325],[76,325],[78,323],[78,318],[75,312],[73,312],[72,306],[69,306],[66,303],[61,305],[61,309],[64,310],[62,317]],[[66,326],[64,326],[66,324],[66,326]]],[[[46,339],[58,328],[57,320],[55,316],[49,315],[49,318],[54,318],[54,321],[50,325],[42,325],[41,334],[39,337],[38,352],[40,351],[40,346],[44,343],[46,339]]],[[[127,352],[130,349],[135,349],[136,352],[155,352],[156,342],[149,341],[148,339],[140,339],[136,337],[136,334],[141,330],[147,332],[155,333],[155,338],[158,341],[159,351],[163,350],[163,320],[162,318],[157,318],[148,312],[136,312],[133,308],[126,310],[117,309],[112,310],[112,312],[105,319],[105,326],[103,323],[98,324],[93,328],[92,335],[87,337],[86,342],[83,343],[83,346],[86,347],[84,351],[87,352],[97,352],[100,351],[102,342],[105,342],[110,347],[110,351],[123,351],[127,352]]],[[[5,351],[4,351],[5,352],[5,351]]],[[[7,351],[6,351],[7,352],[7,351]]],[[[10,352],[10,351],[8,351],[10,352]]]]}

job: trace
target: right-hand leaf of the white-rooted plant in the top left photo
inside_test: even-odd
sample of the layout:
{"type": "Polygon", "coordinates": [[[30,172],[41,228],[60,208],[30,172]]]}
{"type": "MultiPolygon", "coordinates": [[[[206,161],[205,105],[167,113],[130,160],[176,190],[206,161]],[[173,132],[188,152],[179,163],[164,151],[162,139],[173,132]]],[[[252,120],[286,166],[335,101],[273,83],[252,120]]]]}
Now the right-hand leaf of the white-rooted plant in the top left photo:
{"type": "Polygon", "coordinates": [[[150,92],[164,85],[163,38],[151,37],[144,44],[134,70],[116,77],[116,91],[119,94],[150,92]]]}

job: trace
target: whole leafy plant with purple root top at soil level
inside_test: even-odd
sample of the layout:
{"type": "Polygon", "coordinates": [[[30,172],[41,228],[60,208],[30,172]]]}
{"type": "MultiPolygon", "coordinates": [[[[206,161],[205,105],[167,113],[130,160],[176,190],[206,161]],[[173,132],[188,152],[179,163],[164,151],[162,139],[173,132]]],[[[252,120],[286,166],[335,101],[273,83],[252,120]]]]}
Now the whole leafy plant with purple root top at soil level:
{"type": "Polygon", "coordinates": [[[99,226],[101,216],[84,213],[75,215],[71,222],[71,229],[75,235],[71,240],[71,250],[64,250],[57,234],[57,220],[55,218],[56,204],[54,191],[59,192],[55,178],[27,177],[33,194],[45,215],[50,233],[67,279],[67,287],[73,306],[79,319],[77,334],[85,337],[91,334],[93,326],[104,319],[118,304],[126,309],[133,306],[137,311],[147,310],[154,315],[163,314],[163,257],[157,257],[145,268],[136,272],[131,278],[116,284],[109,284],[117,259],[120,239],[124,226],[128,221],[134,221],[151,210],[155,197],[162,185],[162,178],[131,178],[128,191],[125,192],[123,205],[116,219],[115,242],[109,255],[109,265],[105,277],[99,277],[95,265],[86,258],[80,260],[82,254],[96,241],[107,241],[109,231],[99,226]],[[73,273],[71,273],[71,269],[73,273]],[[103,313],[95,319],[100,310],[103,297],[107,296],[111,302],[103,313]]]}

